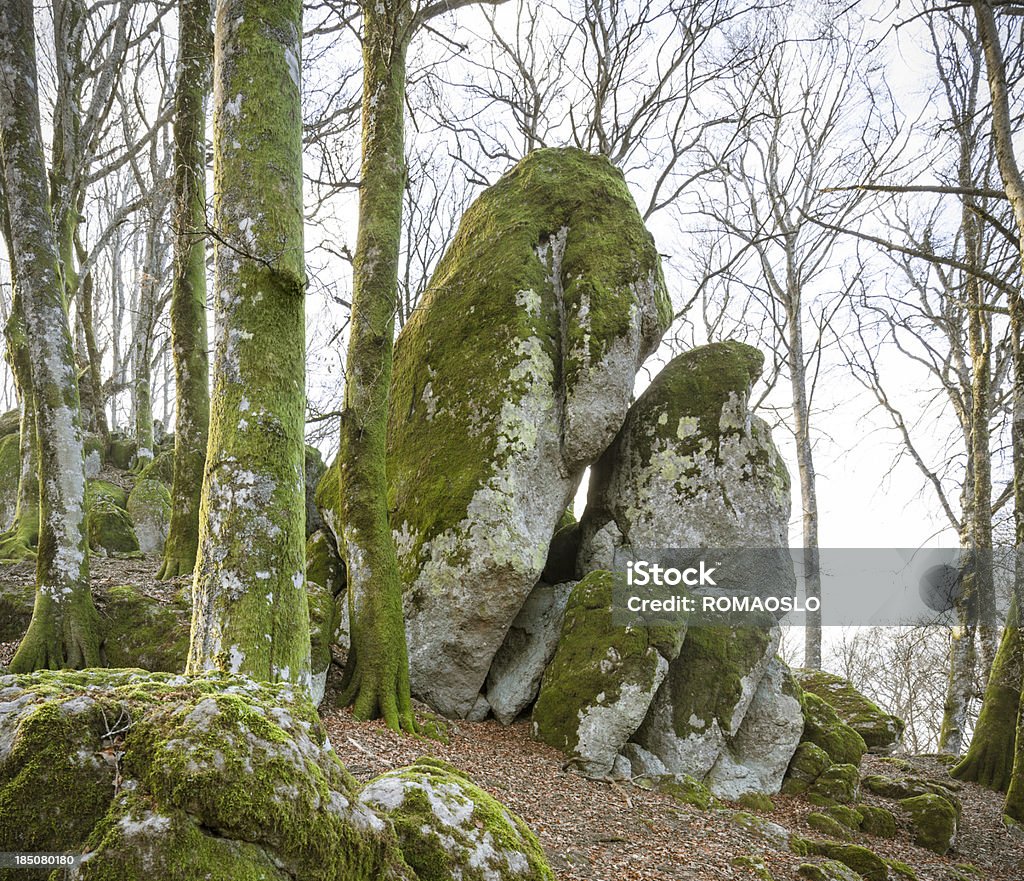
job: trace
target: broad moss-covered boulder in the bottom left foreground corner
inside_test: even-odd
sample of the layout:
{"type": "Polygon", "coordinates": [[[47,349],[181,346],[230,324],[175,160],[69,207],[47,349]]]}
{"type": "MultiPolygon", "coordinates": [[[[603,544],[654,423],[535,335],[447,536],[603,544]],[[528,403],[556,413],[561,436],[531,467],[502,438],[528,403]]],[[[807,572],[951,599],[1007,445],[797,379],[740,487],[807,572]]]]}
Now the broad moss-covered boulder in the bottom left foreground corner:
{"type": "Polygon", "coordinates": [[[4,676],[0,744],[0,849],[87,853],[82,881],[414,879],[286,684],[4,676]]]}

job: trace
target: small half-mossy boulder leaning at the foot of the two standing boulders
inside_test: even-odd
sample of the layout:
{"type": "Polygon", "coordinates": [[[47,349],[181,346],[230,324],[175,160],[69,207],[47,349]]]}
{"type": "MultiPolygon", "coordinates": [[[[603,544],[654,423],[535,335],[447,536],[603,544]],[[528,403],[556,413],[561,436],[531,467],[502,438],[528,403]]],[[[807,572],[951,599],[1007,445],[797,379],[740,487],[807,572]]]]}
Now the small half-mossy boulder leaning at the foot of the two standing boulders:
{"type": "Polygon", "coordinates": [[[618,620],[609,572],[593,572],[569,594],[555,656],[534,705],[534,736],[591,777],[610,773],[679,651],[680,632],[618,620]]]}

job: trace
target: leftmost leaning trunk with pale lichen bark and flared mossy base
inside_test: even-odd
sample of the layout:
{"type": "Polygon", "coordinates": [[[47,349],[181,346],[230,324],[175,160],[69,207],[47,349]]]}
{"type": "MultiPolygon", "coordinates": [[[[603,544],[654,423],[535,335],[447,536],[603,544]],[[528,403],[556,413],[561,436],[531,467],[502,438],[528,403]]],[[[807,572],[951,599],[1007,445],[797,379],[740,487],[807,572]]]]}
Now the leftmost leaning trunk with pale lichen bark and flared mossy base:
{"type": "Polygon", "coordinates": [[[50,214],[32,0],[0,4],[0,161],[36,403],[40,535],[36,603],[13,672],[99,663],[89,593],[85,458],[68,311],[50,214]]]}

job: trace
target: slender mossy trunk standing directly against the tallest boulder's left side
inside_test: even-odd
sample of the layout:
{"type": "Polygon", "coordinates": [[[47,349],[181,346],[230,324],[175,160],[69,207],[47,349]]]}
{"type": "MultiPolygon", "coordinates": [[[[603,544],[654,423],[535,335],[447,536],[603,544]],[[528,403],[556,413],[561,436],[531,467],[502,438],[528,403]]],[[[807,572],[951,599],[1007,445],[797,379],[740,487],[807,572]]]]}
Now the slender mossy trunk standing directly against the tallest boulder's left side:
{"type": "Polygon", "coordinates": [[[415,730],[409,654],[387,507],[387,410],[406,185],[409,0],[362,4],[362,168],[341,420],[340,537],[348,567],[351,649],[344,703],[358,719],[415,730]]]}

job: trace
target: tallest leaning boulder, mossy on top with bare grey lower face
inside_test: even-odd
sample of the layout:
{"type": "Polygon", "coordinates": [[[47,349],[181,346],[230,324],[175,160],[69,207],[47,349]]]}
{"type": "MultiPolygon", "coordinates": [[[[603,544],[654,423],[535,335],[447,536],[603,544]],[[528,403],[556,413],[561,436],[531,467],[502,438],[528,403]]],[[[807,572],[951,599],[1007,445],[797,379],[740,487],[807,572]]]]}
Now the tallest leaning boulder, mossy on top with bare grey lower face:
{"type": "Polygon", "coordinates": [[[396,341],[388,420],[412,684],[437,710],[476,703],[671,318],[602,156],[536,151],[463,215],[396,341]]]}

